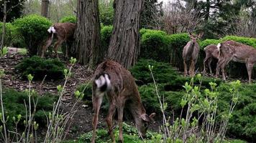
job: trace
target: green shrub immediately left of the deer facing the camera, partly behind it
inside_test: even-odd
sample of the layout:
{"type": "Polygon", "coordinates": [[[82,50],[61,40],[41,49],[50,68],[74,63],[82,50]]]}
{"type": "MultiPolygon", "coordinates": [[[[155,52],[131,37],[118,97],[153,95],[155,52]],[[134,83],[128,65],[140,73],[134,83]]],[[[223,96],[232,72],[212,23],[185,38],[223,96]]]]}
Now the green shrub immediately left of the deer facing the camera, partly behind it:
{"type": "Polygon", "coordinates": [[[183,69],[182,52],[190,38],[188,34],[172,34],[170,37],[170,63],[178,69],[183,69]]]}

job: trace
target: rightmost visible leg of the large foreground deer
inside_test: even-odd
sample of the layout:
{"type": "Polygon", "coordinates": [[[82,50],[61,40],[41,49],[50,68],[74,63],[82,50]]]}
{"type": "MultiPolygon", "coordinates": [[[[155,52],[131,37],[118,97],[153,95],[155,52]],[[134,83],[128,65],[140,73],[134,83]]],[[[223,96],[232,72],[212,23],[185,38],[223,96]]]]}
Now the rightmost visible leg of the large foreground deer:
{"type": "MultiPolygon", "coordinates": [[[[123,101],[123,100],[122,100],[123,101]]],[[[118,112],[118,126],[119,126],[119,142],[124,143],[124,137],[123,137],[123,127],[122,127],[122,123],[123,123],[123,115],[124,115],[124,103],[120,103],[118,108],[117,108],[117,112],[118,112]]]]}

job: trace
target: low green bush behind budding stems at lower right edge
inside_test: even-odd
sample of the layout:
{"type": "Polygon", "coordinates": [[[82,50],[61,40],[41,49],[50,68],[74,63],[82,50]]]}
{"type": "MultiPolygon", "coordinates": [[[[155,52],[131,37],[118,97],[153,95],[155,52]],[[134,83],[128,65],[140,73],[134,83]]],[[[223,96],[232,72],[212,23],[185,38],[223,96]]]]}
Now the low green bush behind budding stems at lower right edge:
{"type": "MultiPolygon", "coordinates": [[[[219,112],[225,112],[228,109],[231,94],[229,84],[221,84],[217,90],[219,96],[219,112]]],[[[227,134],[231,137],[247,139],[252,142],[256,139],[256,84],[242,84],[239,89],[239,100],[234,108],[232,118],[229,120],[229,129],[227,134]]]]}

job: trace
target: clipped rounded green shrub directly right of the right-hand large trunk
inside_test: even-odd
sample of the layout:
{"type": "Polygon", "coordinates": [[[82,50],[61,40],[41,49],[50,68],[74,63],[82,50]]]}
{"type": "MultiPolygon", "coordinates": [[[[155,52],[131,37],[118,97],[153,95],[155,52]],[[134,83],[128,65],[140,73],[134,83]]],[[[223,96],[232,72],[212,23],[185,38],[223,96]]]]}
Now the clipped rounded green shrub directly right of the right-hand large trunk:
{"type": "MultiPolygon", "coordinates": [[[[144,31],[142,30],[142,33],[144,31]]],[[[170,40],[164,31],[146,30],[141,36],[140,58],[168,61],[169,44],[170,40]]]]}

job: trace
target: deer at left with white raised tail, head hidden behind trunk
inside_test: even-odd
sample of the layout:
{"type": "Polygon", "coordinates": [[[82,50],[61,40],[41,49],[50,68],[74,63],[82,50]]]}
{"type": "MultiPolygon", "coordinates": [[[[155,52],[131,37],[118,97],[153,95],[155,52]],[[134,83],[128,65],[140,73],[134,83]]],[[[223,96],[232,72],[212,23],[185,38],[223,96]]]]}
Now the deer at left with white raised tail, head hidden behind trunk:
{"type": "MultiPolygon", "coordinates": [[[[57,41],[54,46],[55,55],[58,57],[58,46],[63,44],[63,41],[73,41],[73,35],[76,29],[76,24],[65,22],[65,23],[57,23],[52,26],[50,26],[47,31],[49,32],[47,41],[44,46],[42,46],[42,54],[41,57],[44,57],[45,51],[47,48],[52,44],[53,36],[57,37],[57,41]]],[[[65,58],[68,57],[68,47],[65,48],[65,58]]]]}

